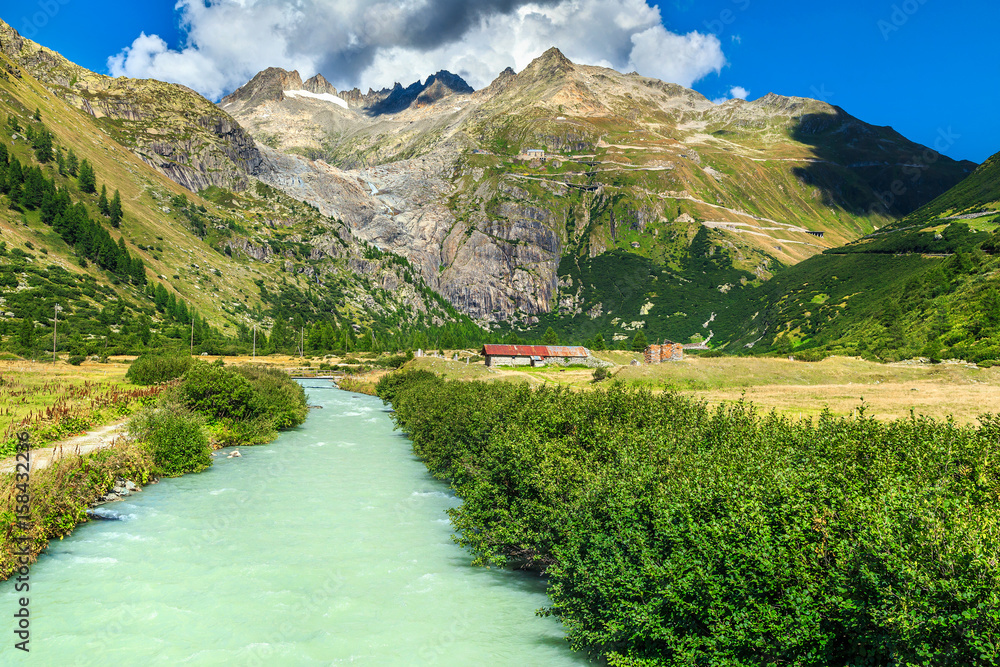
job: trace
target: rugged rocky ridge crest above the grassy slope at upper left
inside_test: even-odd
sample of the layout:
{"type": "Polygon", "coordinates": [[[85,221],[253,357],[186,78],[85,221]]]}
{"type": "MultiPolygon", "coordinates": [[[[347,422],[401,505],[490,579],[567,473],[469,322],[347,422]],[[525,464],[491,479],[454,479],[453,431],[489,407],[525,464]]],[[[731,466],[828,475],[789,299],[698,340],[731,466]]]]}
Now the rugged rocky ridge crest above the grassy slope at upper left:
{"type": "Polygon", "coordinates": [[[58,97],[104,121],[106,131],[184,187],[243,190],[267,170],[238,122],[198,93],[161,81],[112,79],[24,39],[0,21],[0,51],[58,97]]]}

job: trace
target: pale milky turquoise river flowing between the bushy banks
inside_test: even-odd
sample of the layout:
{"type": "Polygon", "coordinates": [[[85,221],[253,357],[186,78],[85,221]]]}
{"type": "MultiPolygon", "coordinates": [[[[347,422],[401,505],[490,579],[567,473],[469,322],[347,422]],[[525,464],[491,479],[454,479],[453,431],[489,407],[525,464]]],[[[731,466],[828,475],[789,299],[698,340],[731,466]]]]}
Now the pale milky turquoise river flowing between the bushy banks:
{"type": "Polygon", "coordinates": [[[579,665],[535,575],[469,566],[458,500],[381,401],[306,383],[322,409],[274,443],[150,485],[31,568],[30,654],[0,584],[0,664],[579,665]]]}

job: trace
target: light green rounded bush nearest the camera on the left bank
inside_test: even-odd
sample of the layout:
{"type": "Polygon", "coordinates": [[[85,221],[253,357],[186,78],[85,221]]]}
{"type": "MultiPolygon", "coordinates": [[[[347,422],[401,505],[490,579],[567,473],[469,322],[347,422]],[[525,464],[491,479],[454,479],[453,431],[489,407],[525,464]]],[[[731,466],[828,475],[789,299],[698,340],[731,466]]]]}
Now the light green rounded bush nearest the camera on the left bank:
{"type": "Polygon", "coordinates": [[[203,426],[199,415],[165,402],[135,415],[128,430],[149,447],[156,474],[176,477],[212,465],[212,450],[203,426]]]}

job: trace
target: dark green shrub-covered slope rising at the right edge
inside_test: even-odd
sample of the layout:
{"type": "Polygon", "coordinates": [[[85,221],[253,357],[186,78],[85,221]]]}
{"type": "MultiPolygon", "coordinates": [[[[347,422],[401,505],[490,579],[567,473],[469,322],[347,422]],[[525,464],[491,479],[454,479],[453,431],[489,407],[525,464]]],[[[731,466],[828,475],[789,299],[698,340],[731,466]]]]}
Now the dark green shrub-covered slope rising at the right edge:
{"type": "Polygon", "coordinates": [[[738,338],[779,352],[992,362],[998,288],[1000,154],[902,220],[778,275],[738,338]]]}

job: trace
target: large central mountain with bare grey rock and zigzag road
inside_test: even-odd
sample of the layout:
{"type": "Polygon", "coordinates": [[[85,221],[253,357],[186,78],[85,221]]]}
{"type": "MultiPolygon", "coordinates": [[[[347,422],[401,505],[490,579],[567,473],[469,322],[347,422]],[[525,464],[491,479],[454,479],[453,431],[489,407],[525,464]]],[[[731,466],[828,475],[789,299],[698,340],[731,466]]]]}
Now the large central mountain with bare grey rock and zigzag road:
{"type": "MultiPolygon", "coordinates": [[[[739,287],[760,282],[890,224],[974,167],[918,164],[925,147],[823,102],[714,105],[556,49],[486,89],[442,92],[392,114],[305,98],[222,107],[272,147],[269,183],[406,256],[463,312],[529,331],[569,318],[567,332],[600,326],[606,337],[630,336],[621,325],[633,322],[653,336],[706,334],[656,324],[684,300],[702,248],[728,258],[739,287]],[[904,178],[903,194],[883,196],[904,178]],[[659,304],[650,287],[634,308],[615,288],[567,287],[581,277],[572,267],[618,251],[676,274],[671,296],[659,304]],[[585,315],[598,310],[614,314],[585,315]]],[[[733,289],[728,271],[713,289],[733,289]]],[[[690,301],[692,321],[712,316],[690,301]]]]}

